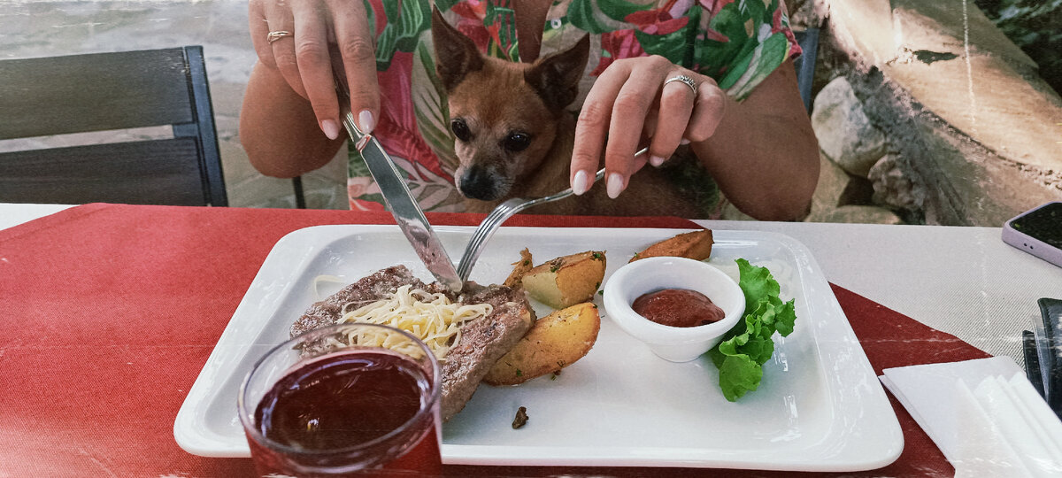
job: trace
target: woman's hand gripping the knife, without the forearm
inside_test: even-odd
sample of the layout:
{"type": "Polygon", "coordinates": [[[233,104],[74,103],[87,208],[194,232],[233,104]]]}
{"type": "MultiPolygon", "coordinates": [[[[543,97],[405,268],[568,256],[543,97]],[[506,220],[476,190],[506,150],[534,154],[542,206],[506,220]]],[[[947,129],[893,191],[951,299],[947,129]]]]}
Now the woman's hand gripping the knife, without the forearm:
{"type": "MultiPolygon", "coordinates": [[[[251,38],[258,59],[280,72],[292,90],[310,101],[321,131],[340,132],[331,52],[338,52],[350,89],[350,110],[371,132],[379,114],[376,55],[364,2],[347,0],[250,0],[251,38]],[[270,33],[276,36],[270,39],[270,33]],[[276,32],[288,32],[290,35],[276,32]]],[[[337,68],[340,66],[337,65],[337,68]]]]}

